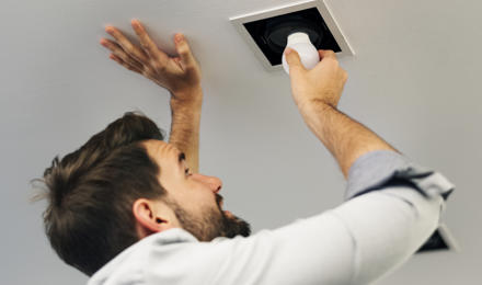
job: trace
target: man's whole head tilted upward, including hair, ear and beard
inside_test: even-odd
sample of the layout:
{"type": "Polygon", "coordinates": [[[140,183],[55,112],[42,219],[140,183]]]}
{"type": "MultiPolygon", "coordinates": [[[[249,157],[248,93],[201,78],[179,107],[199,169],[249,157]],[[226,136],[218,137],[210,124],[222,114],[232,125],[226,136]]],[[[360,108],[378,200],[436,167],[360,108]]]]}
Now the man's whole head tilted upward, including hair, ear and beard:
{"type": "Polygon", "coordinates": [[[188,173],[149,118],[126,113],[44,173],[45,230],[68,264],[92,275],[139,239],[184,228],[200,241],[249,236],[221,210],[221,182],[188,173]]]}

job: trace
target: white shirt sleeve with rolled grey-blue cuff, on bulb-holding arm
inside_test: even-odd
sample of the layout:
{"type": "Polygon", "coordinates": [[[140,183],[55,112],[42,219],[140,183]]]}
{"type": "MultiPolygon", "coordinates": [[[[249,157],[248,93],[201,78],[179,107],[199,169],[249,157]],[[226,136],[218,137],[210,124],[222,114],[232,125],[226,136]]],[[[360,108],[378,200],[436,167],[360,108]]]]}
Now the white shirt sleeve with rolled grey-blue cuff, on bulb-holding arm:
{"type": "Polygon", "coordinates": [[[213,284],[369,284],[427,240],[452,190],[397,152],[369,152],[353,164],[341,206],[206,246],[217,261],[213,284]]]}

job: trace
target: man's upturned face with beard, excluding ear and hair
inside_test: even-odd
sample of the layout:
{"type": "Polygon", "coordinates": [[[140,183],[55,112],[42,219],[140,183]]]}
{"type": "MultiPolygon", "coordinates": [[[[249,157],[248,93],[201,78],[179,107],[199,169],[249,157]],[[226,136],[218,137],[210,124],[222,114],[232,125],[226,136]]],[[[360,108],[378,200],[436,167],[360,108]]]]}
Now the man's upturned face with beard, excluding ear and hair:
{"type": "Polygon", "coordinates": [[[160,168],[158,178],[168,192],[165,202],[183,229],[199,241],[250,236],[251,228],[246,221],[222,210],[222,196],[218,194],[222,182],[218,178],[191,173],[184,153],[173,145],[151,139],[145,146],[160,168]]]}

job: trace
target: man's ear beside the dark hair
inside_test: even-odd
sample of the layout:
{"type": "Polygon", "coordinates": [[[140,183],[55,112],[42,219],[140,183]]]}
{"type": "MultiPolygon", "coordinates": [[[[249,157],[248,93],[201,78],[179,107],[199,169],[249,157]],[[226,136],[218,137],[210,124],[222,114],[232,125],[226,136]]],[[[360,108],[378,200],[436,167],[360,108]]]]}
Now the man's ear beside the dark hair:
{"type": "Polygon", "coordinates": [[[168,206],[158,201],[138,198],[133,204],[136,229],[140,238],[173,228],[172,218],[167,214],[168,206]]]}

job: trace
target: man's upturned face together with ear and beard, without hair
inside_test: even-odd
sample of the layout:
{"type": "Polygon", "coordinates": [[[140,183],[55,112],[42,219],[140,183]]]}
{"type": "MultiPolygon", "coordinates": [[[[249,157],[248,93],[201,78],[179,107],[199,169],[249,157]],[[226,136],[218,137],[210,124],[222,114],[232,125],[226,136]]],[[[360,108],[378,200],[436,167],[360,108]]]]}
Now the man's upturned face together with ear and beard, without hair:
{"type": "Polygon", "coordinates": [[[184,228],[200,241],[250,235],[249,224],[221,209],[219,179],[191,173],[184,153],[170,144],[151,139],[141,145],[160,167],[159,183],[168,195],[162,200],[139,198],[134,203],[139,237],[170,228],[184,228]]]}

